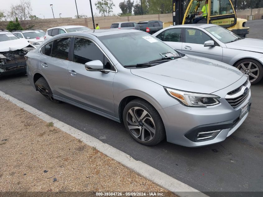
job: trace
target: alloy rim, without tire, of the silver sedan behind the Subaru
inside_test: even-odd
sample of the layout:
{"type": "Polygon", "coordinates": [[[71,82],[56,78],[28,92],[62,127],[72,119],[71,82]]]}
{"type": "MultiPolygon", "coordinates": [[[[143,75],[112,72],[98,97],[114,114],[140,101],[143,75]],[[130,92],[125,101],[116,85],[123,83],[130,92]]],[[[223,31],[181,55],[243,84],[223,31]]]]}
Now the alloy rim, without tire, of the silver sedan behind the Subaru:
{"type": "Polygon", "coordinates": [[[253,62],[242,62],[237,69],[244,73],[250,82],[254,82],[259,76],[259,68],[253,62]]]}

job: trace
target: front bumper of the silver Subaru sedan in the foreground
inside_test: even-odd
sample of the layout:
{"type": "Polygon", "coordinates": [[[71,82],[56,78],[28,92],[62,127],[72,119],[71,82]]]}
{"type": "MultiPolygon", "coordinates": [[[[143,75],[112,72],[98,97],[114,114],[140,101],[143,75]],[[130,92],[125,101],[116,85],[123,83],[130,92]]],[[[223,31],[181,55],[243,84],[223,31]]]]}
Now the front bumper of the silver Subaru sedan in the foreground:
{"type": "Polygon", "coordinates": [[[251,91],[245,101],[236,108],[224,99],[220,104],[206,108],[187,107],[181,104],[158,110],[162,117],[167,142],[186,147],[199,147],[222,142],[231,135],[247,118],[251,106],[251,91]],[[241,108],[248,102],[248,112],[241,119],[241,108]],[[216,137],[196,141],[199,132],[220,130],[216,137]]]}

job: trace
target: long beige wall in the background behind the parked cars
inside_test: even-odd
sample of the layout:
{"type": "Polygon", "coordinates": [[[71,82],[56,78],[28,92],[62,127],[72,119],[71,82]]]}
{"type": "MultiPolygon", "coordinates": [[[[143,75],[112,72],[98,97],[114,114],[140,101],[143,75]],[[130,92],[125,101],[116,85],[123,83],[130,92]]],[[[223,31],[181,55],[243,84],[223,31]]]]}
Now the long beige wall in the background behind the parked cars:
{"type": "MultiPolygon", "coordinates": [[[[250,15],[251,10],[237,11],[237,17],[246,18],[250,15]]],[[[253,9],[254,19],[261,19],[263,15],[263,8],[253,9]]],[[[99,23],[101,29],[110,28],[110,25],[114,22],[122,21],[149,21],[160,20],[162,22],[172,22],[172,14],[154,14],[154,15],[142,15],[142,16],[108,16],[108,17],[95,17],[95,24],[99,23]]],[[[262,19],[263,20],[263,19],[262,19]]],[[[0,29],[5,29],[9,21],[0,21],[0,29]]],[[[47,30],[50,27],[63,26],[63,25],[82,25],[93,29],[92,18],[55,18],[55,19],[39,19],[39,20],[26,20],[19,21],[23,28],[34,25],[34,29],[47,30]]]]}

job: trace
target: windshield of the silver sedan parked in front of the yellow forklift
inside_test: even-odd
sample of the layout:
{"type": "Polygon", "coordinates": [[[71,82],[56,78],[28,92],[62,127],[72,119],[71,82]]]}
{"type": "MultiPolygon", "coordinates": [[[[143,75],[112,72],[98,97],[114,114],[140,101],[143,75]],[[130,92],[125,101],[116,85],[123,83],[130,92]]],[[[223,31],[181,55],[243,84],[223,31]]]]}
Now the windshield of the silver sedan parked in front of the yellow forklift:
{"type": "Polygon", "coordinates": [[[204,29],[207,30],[210,34],[214,35],[214,37],[216,37],[223,43],[233,42],[235,40],[242,39],[239,35],[236,35],[233,32],[221,26],[212,26],[204,29]]]}

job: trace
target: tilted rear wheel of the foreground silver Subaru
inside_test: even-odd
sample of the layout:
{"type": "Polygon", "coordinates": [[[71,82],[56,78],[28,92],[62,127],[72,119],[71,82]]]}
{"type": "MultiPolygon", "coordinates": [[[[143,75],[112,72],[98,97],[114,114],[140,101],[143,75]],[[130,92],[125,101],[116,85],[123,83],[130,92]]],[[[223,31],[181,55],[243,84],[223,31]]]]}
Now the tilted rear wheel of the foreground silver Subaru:
{"type": "Polygon", "coordinates": [[[37,90],[45,96],[48,100],[54,102],[54,103],[61,103],[61,101],[56,100],[53,98],[52,91],[48,85],[48,82],[45,80],[44,77],[40,77],[36,82],[35,82],[35,87],[37,90]]]}

